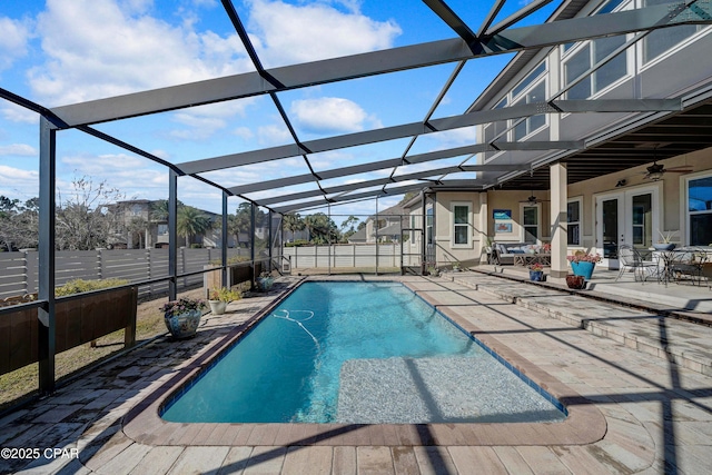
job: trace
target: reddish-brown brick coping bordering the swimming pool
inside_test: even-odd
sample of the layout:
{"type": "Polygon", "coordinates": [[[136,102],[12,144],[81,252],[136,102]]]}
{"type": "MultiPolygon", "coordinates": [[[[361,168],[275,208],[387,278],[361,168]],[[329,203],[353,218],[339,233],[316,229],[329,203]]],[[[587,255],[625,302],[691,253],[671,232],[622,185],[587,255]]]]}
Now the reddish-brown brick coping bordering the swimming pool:
{"type": "MultiPolygon", "coordinates": [[[[556,423],[433,423],[433,424],[305,424],[305,423],[171,423],[160,417],[161,408],[191,378],[214,364],[261,318],[304,281],[285,291],[246,323],[219,338],[200,355],[187,360],[176,374],[131,408],[122,419],[123,433],[135,442],[152,446],[523,446],[587,445],[601,441],[606,420],[593,402],[548,375],[536,365],[498,342],[486,330],[447,311],[447,304],[435,301],[400,281],[412,291],[455,321],[479,342],[508,362],[567,409],[568,417],[556,423]]],[[[342,280],[343,281],[343,280],[342,280]]]]}

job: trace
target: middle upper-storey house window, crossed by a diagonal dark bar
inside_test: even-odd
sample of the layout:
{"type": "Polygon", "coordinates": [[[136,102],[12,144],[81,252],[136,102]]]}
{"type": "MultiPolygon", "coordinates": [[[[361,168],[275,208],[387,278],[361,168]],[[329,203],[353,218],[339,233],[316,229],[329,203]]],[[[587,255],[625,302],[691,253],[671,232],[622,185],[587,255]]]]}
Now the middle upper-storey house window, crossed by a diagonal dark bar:
{"type": "MultiPolygon", "coordinates": [[[[616,48],[625,43],[625,36],[601,38],[583,46],[564,63],[564,82],[571,85],[578,76],[601,62],[616,48]]],[[[589,75],[566,92],[567,99],[587,99],[627,73],[625,51],[589,75]]]]}

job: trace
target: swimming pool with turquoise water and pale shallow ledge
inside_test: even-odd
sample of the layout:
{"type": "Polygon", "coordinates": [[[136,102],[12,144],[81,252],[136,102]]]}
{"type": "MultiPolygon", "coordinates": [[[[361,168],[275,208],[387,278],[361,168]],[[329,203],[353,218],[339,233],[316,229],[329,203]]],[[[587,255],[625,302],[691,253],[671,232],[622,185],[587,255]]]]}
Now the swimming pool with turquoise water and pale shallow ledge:
{"type": "Polygon", "coordinates": [[[397,283],[303,284],[166,407],[184,423],[565,418],[397,283]]]}

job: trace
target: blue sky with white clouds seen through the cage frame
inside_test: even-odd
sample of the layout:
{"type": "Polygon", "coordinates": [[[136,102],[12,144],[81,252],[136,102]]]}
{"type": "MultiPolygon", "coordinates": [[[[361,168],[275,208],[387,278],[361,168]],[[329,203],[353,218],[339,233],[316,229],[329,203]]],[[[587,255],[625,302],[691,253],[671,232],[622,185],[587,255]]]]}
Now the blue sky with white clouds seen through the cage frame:
{"type": "MultiPolygon", "coordinates": [[[[526,2],[510,0],[498,18],[526,2]]],[[[536,14],[545,19],[558,1],[536,14]]],[[[422,1],[235,0],[266,68],[453,38],[422,1]]],[[[453,0],[472,29],[491,2],[453,0]]],[[[53,107],[253,70],[216,0],[48,0],[0,2],[0,87],[53,107]]],[[[508,56],[469,61],[435,117],[462,113],[496,76],[508,56]]],[[[455,65],[343,81],[279,93],[300,140],[422,120],[455,65]]],[[[38,195],[38,121],[0,100],[0,195],[38,195]]],[[[170,162],[184,162],[284,145],[290,137],[268,97],[205,106],[96,126],[170,162]]],[[[412,154],[472,144],[473,129],[419,138],[412,154]]],[[[310,156],[316,170],[399,157],[407,140],[310,156]]],[[[106,181],[127,198],[167,197],[168,174],[150,160],[68,130],[58,133],[58,187],[73,176],[106,181]]],[[[458,164],[438,160],[431,168],[458,164]]],[[[305,174],[301,157],[207,174],[226,186],[305,174]]],[[[407,172],[412,172],[408,167],[407,172]]],[[[400,172],[400,170],[398,171],[400,172]]],[[[403,170],[406,172],[406,170],[403,170]]],[[[364,174],[324,186],[387,176],[364,174]]],[[[452,178],[463,178],[453,176],[452,178]]],[[[279,194],[314,189],[291,187],[279,194]]],[[[259,198],[269,195],[257,194],[259,198]]],[[[379,207],[400,197],[384,198],[379,207]]],[[[179,199],[219,211],[220,195],[191,178],[179,180],[179,199]]],[[[234,210],[240,200],[231,198],[234,210]]],[[[333,207],[335,214],[373,214],[374,201],[333,207]]]]}

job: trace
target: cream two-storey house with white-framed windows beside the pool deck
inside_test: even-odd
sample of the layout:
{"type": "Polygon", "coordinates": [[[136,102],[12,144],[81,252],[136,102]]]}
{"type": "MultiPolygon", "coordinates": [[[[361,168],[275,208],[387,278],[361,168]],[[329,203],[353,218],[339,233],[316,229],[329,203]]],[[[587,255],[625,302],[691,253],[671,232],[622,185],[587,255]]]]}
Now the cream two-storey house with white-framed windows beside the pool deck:
{"type": "MultiPolygon", "coordinates": [[[[548,21],[644,3],[570,2],[548,21]]],[[[479,144],[582,140],[586,147],[516,151],[493,147],[477,156],[478,164],[541,165],[486,190],[426,189],[425,212],[419,198],[405,204],[406,212],[426,221],[423,234],[433,260],[438,265],[455,259],[477,263],[488,238],[531,244],[552,240],[552,253],[561,248],[567,254],[575,249],[599,253],[603,266],[610,268],[619,266],[619,246],[647,250],[665,231],[674,231],[679,245],[712,245],[712,148],[699,150],[705,144],[712,146],[712,138],[694,133],[694,121],[709,120],[712,113],[712,69],[709,61],[699,60],[712,49],[712,29],[662,29],[636,42],[633,37],[520,52],[468,112],[552,99],[647,98],[680,99],[683,110],[547,113],[477,126],[479,144]],[[617,49],[622,52],[610,57],[617,49]],[[684,147],[691,141],[702,144],[698,151],[684,147]],[[630,164],[630,168],[609,171],[606,159],[630,164]],[[562,239],[555,236],[562,218],[567,234],[554,243],[562,239]]],[[[417,239],[412,240],[414,248],[421,248],[417,239]]],[[[562,277],[565,267],[565,259],[553,263],[552,275],[562,277]]]]}

